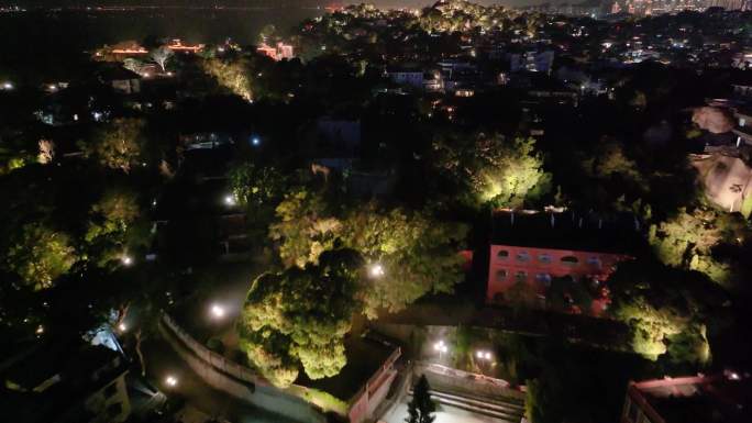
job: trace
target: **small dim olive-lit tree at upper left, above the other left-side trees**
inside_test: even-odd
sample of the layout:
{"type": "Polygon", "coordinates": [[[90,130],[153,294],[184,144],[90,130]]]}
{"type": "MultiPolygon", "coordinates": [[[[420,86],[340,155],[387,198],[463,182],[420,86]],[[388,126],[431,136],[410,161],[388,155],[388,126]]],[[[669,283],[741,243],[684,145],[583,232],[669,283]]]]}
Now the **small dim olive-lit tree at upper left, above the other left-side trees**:
{"type": "Polygon", "coordinates": [[[140,119],[115,119],[99,129],[93,140],[82,147],[101,165],[129,172],[143,153],[144,126],[145,122],[140,119]]]}

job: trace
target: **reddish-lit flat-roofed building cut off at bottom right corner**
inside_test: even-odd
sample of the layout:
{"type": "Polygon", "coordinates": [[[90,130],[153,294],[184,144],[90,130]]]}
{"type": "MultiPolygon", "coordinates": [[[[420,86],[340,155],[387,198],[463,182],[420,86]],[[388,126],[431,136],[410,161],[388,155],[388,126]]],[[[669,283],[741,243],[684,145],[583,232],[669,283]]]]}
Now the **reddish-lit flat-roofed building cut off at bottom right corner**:
{"type": "Polygon", "coordinates": [[[726,370],[630,382],[621,423],[752,422],[752,378],[726,370]]]}

